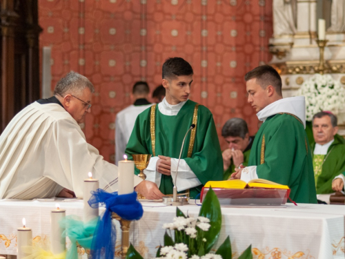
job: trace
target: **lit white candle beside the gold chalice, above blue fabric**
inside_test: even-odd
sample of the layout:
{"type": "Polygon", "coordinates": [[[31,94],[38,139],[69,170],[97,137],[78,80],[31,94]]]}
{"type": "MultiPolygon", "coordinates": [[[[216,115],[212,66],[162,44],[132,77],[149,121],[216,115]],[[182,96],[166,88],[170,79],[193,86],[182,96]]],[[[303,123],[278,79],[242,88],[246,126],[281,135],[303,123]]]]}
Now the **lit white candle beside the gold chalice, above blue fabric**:
{"type": "Polygon", "coordinates": [[[119,189],[117,193],[128,194],[134,191],[134,161],[127,160],[127,155],[124,155],[125,160],[119,161],[119,189]]]}

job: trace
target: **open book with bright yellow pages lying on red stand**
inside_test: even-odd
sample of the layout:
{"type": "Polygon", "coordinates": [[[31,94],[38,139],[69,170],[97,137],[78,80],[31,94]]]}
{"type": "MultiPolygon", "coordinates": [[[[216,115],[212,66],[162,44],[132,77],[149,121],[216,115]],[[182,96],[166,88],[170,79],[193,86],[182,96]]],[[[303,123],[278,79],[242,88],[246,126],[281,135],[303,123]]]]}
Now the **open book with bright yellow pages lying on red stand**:
{"type": "Polygon", "coordinates": [[[277,184],[264,179],[250,180],[248,183],[239,180],[226,180],[226,181],[209,181],[206,182],[205,188],[221,188],[221,189],[250,189],[250,188],[262,188],[262,189],[285,189],[288,190],[287,185],[277,184]]]}

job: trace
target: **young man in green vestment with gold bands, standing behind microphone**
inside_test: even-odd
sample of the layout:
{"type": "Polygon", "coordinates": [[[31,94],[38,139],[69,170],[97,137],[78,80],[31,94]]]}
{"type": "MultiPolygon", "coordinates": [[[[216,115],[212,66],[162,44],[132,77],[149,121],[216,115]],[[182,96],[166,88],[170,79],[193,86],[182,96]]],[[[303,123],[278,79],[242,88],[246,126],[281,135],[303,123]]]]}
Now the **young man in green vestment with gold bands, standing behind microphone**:
{"type": "Polygon", "coordinates": [[[162,69],[166,97],[137,117],[126,153],[151,154],[144,173],[164,194],[177,191],[190,197],[200,193],[206,182],[221,180],[223,161],[213,115],[208,108],[188,99],[193,82],[193,68],[180,57],[169,58],[162,69]],[[181,145],[191,124],[195,128],[186,136],[181,160],[181,145]]]}

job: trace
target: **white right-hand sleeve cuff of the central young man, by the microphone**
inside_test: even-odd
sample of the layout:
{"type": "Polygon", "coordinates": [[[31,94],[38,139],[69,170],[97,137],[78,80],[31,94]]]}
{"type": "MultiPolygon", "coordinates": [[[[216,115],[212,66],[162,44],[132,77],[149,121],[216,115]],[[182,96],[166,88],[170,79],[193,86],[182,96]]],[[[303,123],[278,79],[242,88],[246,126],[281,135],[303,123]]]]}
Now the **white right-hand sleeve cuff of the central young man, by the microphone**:
{"type": "Polygon", "coordinates": [[[171,158],[171,177],[172,182],[177,187],[177,191],[185,191],[187,189],[199,186],[201,182],[197,178],[197,175],[190,169],[188,166],[186,160],[181,159],[180,161],[177,158],[171,158]],[[177,169],[177,162],[179,161],[179,171],[177,173],[177,179],[175,183],[176,178],[176,169],[177,169]]]}

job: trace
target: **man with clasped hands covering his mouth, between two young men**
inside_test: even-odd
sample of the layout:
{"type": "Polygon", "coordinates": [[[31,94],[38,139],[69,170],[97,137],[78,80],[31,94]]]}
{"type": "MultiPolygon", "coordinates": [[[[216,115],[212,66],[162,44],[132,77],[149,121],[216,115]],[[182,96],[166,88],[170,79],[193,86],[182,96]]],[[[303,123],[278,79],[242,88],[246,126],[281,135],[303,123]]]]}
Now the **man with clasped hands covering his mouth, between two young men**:
{"type": "Polygon", "coordinates": [[[221,135],[228,142],[228,148],[223,151],[223,180],[228,180],[231,173],[239,166],[248,166],[250,149],[254,137],[249,136],[248,126],[244,119],[232,118],[224,124],[221,135]]]}

